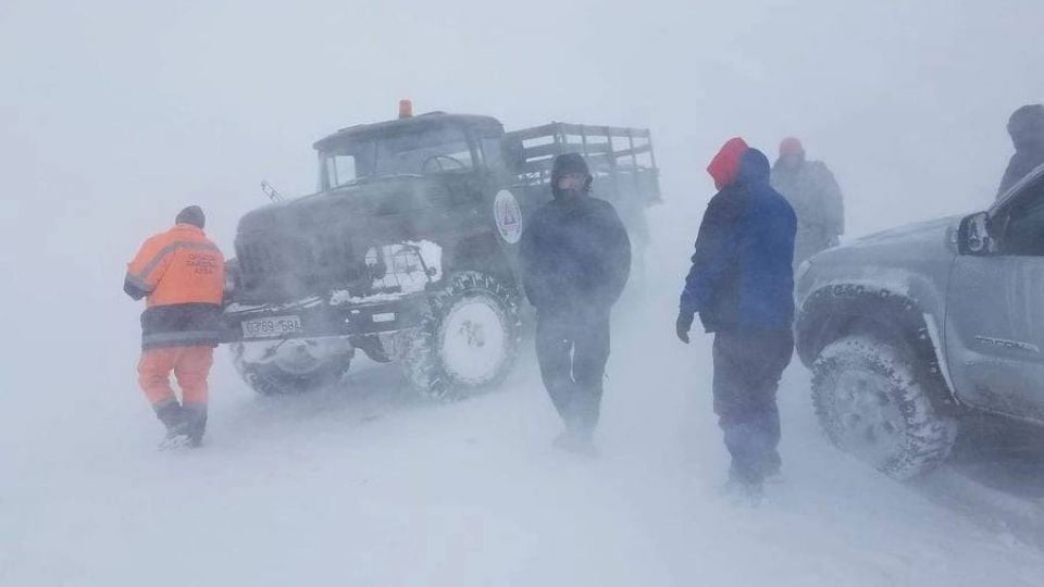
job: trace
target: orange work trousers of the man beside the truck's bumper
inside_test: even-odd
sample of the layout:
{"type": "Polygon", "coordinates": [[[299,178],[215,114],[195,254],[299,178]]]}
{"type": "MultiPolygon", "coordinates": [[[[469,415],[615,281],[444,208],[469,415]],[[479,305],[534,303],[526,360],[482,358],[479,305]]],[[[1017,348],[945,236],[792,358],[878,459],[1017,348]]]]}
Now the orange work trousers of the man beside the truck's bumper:
{"type": "Polygon", "coordinates": [[[149,349],[138,361],[138,385],[153,408],[177,401],[171,387],[171,372],[182,388],[182,403],[207,405],[207,377],[214,364],[214,349],[210,347],[173,347],[149,349]]]}

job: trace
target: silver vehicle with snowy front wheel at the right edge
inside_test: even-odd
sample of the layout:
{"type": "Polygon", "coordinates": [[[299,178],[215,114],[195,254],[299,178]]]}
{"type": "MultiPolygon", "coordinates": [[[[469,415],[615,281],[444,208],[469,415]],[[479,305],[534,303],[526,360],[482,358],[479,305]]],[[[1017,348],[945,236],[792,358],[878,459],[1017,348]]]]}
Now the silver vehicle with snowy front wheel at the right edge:
{"type": "Polygon", "coordinates": [[[1044,166],[987,211],[871,235],[797,274],[797,348],[841,449],[897,478],[959,416],[1044,426],[1044,166]]]}

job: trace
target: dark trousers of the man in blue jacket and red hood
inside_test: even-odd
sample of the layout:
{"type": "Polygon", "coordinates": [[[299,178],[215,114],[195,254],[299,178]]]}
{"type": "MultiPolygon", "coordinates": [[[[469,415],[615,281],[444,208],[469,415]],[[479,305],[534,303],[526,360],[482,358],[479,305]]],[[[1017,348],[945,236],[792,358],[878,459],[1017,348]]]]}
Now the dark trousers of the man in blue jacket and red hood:
{"type": "Polygon", "coordinates": [[[732,475],[760,483],[779,471],[775,392],[794,353],[790,330],[714,335],[714,413],[732,455],[732,475]]]}

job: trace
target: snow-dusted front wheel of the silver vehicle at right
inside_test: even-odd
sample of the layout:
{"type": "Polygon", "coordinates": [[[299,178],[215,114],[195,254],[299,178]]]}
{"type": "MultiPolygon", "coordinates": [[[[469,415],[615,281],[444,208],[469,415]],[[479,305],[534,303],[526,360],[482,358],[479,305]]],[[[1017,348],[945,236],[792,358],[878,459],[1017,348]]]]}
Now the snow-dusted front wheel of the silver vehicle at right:
{"type": "Polygon", "coordinates": [[[957,436],[956,420],[933,409],[910,357],[852,336],[829,345],[812,365],[812,403],[826,436],[898,479],[937,466],[957,436]]]}

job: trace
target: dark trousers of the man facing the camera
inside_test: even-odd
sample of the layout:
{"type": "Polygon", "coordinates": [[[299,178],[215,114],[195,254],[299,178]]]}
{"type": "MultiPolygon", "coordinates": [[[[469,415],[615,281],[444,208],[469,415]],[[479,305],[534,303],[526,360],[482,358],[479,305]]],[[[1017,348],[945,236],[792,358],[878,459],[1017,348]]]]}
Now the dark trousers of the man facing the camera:
{"type": "Polygon", "coordinates": [[[544,387],[573,433],[589,435],[598,425],[609,347],[608,312],[537,316],[536,358],[544,387]]]}

